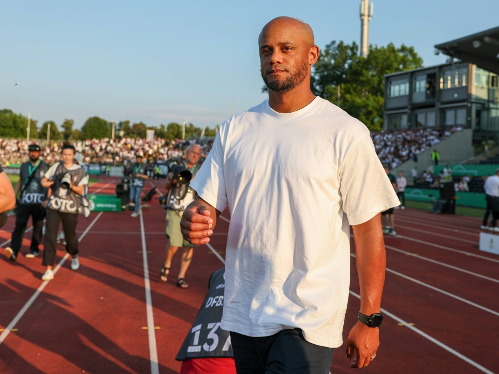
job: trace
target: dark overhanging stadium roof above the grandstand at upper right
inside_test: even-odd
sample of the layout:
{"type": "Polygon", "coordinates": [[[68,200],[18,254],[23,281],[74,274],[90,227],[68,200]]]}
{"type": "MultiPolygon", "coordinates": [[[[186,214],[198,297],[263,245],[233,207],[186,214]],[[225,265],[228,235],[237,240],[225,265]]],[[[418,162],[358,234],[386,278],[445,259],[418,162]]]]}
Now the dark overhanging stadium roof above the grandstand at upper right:
{"type": "Polygon", "coordinates": [[[437,44],[435,48],[448,56],[499,74],[499,27],[437,44]]]}

